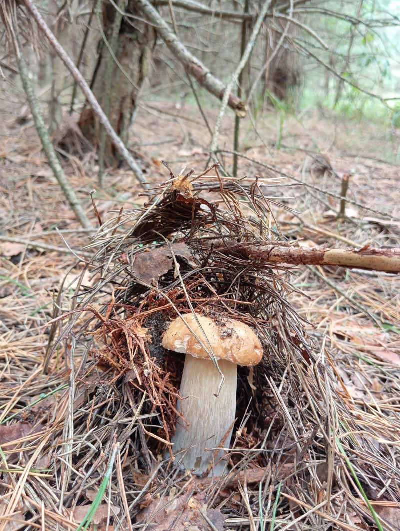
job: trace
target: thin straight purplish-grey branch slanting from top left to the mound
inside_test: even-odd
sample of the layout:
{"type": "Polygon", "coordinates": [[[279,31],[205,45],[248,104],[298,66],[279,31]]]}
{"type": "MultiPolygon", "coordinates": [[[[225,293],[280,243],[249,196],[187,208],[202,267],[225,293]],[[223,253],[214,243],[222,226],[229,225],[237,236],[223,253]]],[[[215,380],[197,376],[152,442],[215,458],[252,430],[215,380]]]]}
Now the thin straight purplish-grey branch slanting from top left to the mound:
{"type": "Polygon", "coordinates": [[[139,181],[143,185],[146,185],[147,184],[146,177],[144,177],[142,170],[140,169],[138,163],[135,161],[131,153],[127,150],[125,144],[122,142],[120,137],[114,131],[114,128],[110,124],[106,114],[104,113],[104,110],[100,107],[99,102],[95,98],[95,95],[90,90],[88,83],[84,80],[78,68],[76,68],[71,57],[65,52],[61,44],[59,44],[54,33],[52,32],[52,30],[50,30],[50,28],[48,27],[48,25],[42,18],[41,14],[37,10],[37,7],[33,4],[32,0],[23,0],[23,3],[27,7],[27,10],[29,11],[29,13],[33,16],[33,19],[36,21],[41,33],[49,40],[55,52],[61,58],[61,60],[63,61],[65,66],[68,68],[68,70],[71,72],[74,80],[76,81],[76,83],[78,83],[82,92],[84,93],[87,100],[89,101],[89,104],[93,109],[93,112],[95,112],[96,115],[98,116],[101,125],[103,125],[107,134],[110,136],[113,143],[115,144],[115,147],[121,153],[121,156],[123,157],[123,159],[126,160],[127,164],[133,170],[134,174],[138,177],[139,181]]]}

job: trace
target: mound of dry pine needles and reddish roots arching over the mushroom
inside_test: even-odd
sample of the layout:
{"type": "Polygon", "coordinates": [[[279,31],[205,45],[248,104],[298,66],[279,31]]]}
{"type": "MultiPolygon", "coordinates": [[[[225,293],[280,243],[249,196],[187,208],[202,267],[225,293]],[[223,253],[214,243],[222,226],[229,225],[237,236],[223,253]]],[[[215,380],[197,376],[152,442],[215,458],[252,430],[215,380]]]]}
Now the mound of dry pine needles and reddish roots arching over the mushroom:
{"type": "MultiPolygon", "coordinates": [[[[276,179],[220,176],[216,165],[200,175],[171,172],[169,181],[146,192],[143,208],[121,210],[101,226],[87,247],[93,258],[86,270],[96,282],[81,286],[71,311],[54,321],[64,327],[55,347],[68,338],[75,364],[81,359],[74,369],[72,440],[90,443],[92,456],[99,441],[101,448],[119,443],[121,508],[134,502],[133,518],[140,503],[157,512],[156,494],[173,495],[182,478],[184,451],[175,456],[172,442],[177,426],[190,432],[185,399],[195,392],[179,390],[184,354],[163,346],[180,316],[201,315],[220,330],[242,323],[257,335],[263,354],[259,365],[239,367],[234,376],[231,444],[226,430],[212,441],[209,466],[200,470],[211,474],[190,489],[209,489],[210,504],[232,516],[236,506],[227,490],[237,490],[239,479],[240,489],[243,481],[258,482],[248,508],[260,500],[273,507],[280,484],[280,518],[286,524],[296,518],[304,529],[337,525],[344,504],[346,514],[351,508],[355,518],[374,525],[368,496],[398,498],[398,435],[386,430],[386,413],[378,415],[373,402],[364,407],[351,400],[324,345],[317,348],[304,332],[307,323],[290,302],[290,271],[239,254],[238,243],[285,242],[268,199],[272,185],[276,192],[276,179]],[[212,465],[221,460],[228,473],[215,483],[212,465]]],[[[210,349],[218,394],[224,370],[199,337],[210,349]]],[[[63,434],[69,440],[71,431],[63,434]]],[[[81,458],[71,448],[71,464],[79,469],[81,458]]],[[[151,523],[151,515],[141,513],[139,521],[151,523]]],[[[349,521],[346,529],[353,528],[349,521]]]]}

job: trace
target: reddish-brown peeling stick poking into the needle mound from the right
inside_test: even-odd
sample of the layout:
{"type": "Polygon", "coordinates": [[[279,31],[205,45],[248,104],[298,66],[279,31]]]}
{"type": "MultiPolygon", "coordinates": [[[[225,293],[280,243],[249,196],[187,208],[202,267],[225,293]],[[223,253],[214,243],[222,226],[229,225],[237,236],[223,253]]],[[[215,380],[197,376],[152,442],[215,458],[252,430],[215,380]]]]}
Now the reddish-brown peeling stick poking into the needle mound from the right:
{"type": "Polygon", "coordinates": [[[344,268],[366,269],[400,273],[400,247],[361,247],[361,249],[321,249],[318,247],[293,247],[279,243],[237,244],[216,247],[228,250],[243,258],[259,260],[266,264],[291,265],[341,265],[344,268]]]}

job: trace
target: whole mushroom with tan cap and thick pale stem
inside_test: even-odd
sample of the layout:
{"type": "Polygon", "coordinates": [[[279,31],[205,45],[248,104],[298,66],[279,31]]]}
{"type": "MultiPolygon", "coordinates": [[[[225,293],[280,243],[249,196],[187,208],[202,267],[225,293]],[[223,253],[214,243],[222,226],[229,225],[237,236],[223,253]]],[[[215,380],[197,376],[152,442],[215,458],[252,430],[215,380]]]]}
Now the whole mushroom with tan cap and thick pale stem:
{"type": "Polygon", "coordinates": [[[217,455],[206,450],[219,446],[229,446],[236,413],[237,365],[256,365],[261,361],[262,345],[256,333],[241,321],[224,318],[217,324],[210,317],[200,314],[185,314],[185,324],[181,317],[173,320],[163,337],[163,346],[175,352],[186,354],[180,388],[182,400],[178,400],[178,410],[189,422],[186,427],[178,422],[172,438],[174,452],[185,450],[183,465],[202,474],[210,461],[214,463],[214,474],[223,473],[225,463],[217,455]],[[194,333],[193,333],[194,332],[194,333]],[[219,360],[218,365],[225,376],[219,396],[215,395],[221,375],[210,359],[206,349],[210,346],[219,360]],[[206,339],[207,337],[207,339],[206,339]]]}

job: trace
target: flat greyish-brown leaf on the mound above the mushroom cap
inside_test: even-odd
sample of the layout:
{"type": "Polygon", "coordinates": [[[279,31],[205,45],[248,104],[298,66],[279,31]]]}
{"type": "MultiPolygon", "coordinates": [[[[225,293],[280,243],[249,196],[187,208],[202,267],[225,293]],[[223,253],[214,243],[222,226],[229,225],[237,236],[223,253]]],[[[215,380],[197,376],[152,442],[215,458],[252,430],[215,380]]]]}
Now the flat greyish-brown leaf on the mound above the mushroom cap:
{"type": "MultiPolygon", "coordinates": [[[[172,249],[176,258],[183,259],[192,267],[197,267],[188,245],[185,243],[173,243],[172,249]]],[[[133,263],[134,276],[139,281],[146,282],[146,284],[157,281],[159,277],[165,275],[171,269],[175,269],[175,264],[171,249],[167,245],[146,250],[135,255],[133,263]]]]}

